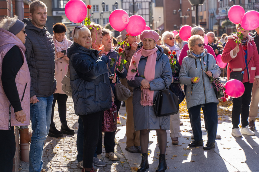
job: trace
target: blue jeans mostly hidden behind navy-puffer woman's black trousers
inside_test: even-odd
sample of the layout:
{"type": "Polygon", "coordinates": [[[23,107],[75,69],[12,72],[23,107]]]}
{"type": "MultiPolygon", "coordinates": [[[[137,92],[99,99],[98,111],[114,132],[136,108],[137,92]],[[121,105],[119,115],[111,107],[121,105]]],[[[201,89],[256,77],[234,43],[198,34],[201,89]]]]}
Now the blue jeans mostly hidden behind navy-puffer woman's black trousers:
{"type": "MultiPolygon", "coordinates": [[[[83,161],[83,145],[84,145],[83,120],[78,116],[78,130],[77,130],[77,137],[76,137],[77,162],[83,161]]],[[[94,157],[97,157],[96,151],[97,151],[97,147],[95,148],[94,157]]]]}

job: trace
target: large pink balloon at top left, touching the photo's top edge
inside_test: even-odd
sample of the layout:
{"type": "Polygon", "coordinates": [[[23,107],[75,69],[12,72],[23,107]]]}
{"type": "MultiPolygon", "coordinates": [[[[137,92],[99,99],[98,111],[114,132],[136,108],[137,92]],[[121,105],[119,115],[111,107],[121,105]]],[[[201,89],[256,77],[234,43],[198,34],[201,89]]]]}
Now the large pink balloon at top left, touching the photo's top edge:
{"type": "Polygon", "coordinates": [[[87,8],[81,0],[70,0],[65,6],[67,18],[74,23],[81,23],[87,16],[87,8]]]}

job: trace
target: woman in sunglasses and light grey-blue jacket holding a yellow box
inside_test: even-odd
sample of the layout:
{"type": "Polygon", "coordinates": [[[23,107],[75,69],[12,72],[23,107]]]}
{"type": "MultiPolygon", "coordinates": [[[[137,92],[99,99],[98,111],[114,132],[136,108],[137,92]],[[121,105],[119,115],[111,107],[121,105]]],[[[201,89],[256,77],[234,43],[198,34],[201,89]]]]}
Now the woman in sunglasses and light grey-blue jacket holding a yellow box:
{"type": "Polygon", "coordinates": [[[179,80],[186,84],[186,104],[189,112],[194,141],[189,147],[203,146],[201,131],[201,105],[204,105],[204,118],[208,121],[208,142],[204,150],[215,148],[217,134],[218,99],[209,77],[219,77],[220,69],[214,57],[204,49],[204,38],[193,35],[188,41],[187,56],[181,66],[179,80]],[[204,72],[208,69],[207,72],[204,72]],[[204,70],[204,71],[202,71],[204,70]],[[208,75],[208,76],[206,76],[208,75]],[[198,80],[194,80],[198,76],[198,80]]]}

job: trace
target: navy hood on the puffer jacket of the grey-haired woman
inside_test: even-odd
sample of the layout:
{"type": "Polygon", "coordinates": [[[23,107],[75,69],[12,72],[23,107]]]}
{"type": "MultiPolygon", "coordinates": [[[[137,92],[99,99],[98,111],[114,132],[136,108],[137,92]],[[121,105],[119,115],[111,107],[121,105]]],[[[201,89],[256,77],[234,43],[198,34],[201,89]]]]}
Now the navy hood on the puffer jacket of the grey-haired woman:
{"type": "Polygon", "coordinates": [[[95,56],[98,57],[98,51],[95,49],[87,49],[81,45],[79,45],[78,43],[72,43],[71,46],[67,49],[67,56],[70,59],[70,57],[72,56],[72,54],[75,53],[85,53],[88,55],[91,55],[91,53],[94,53],[95,56]]]}

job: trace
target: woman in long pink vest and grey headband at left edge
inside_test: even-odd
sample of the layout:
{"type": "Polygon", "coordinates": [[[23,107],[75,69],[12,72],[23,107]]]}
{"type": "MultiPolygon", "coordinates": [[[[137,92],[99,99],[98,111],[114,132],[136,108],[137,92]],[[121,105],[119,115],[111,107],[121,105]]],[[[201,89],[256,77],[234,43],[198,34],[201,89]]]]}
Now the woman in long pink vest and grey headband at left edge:
{"type": "Polygon", "coordinates": [[[24,55],[25,36],[25,24],[17,16],[0,22],[0,169],[6,172],[13,169],[14,126],[30,124],[31,76],[24,55]]]}

